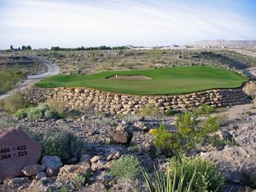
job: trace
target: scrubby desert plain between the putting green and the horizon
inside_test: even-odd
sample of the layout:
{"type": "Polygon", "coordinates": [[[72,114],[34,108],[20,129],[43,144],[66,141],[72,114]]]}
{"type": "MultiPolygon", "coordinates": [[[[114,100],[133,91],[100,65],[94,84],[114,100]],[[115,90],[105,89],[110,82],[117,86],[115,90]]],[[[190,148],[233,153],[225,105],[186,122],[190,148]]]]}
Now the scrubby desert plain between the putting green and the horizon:
{"type": "Polygon", "coordinates": [[[87,74],[101,71],[209,65],[228,69],[253,67],[252,56],[226,49],[152,50],[51,50],[38,52],[61,67],[61,73],[87,74]]]}

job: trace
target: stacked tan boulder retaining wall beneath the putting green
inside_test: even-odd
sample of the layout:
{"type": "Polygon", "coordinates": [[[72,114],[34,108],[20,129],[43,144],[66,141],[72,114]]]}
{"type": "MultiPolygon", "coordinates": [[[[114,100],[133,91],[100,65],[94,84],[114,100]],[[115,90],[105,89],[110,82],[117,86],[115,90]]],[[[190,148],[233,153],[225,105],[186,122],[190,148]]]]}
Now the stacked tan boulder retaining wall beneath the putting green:
{"type": "Polygon", "coordinates": [[[30,102],[44,102],[53,99],[65,102],[68,108],[116,113],[137,113],[145,105],[152,103],[160,110],[168,108],[183,110],[198,107],[203,103],[216,108],[239,105],[250,102],[241,89],[205,90],[181,96],[135,96],[106,92],[89,88],[44,89],[33,86],[26,90],[25,97],[30,102]]]}

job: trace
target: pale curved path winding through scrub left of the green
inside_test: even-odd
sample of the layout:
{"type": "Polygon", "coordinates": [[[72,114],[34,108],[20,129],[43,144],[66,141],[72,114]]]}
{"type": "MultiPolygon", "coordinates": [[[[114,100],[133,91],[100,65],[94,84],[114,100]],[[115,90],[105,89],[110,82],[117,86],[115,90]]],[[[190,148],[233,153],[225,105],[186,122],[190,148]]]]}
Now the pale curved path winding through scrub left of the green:
{"type": "Polygon", "coordinates": [[[60,68],[57,67],[55,65],[55,63],[46,61],[46,60],[44,60],[38,56],[34,56],[34,55],[29,55],[27,57],[30,58],[31,60],[38,61],[38,62],[41,62],[44,65],[46,65],[48,67],[48,72],[38,74],[38,75],[28,75],[25,82],[23,82],[22,84],[18,84],[18,86],[14,90],[10,90],[9,92],[0,96],[0,100],[13,95],[15,92],[17,92],[19,90],[25,90],[26,88],[28,88],[32,84],[35,84],[36,82],[40,81],[41,79],[45,79],[45,78],[48,78],[50,76],[60,73],[60,68]]]}

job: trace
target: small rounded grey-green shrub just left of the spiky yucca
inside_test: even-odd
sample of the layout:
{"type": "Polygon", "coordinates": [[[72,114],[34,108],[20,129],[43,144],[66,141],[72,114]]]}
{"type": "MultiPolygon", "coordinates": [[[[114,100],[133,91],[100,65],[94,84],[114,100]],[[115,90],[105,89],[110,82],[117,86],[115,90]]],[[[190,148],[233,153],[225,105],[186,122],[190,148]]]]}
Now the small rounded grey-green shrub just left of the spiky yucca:
{"type": "Polygon", "coordinates": [[[110,173],[115,177],[132,181],[140,172],[141,162],[133,155],[123,155],[119,160],[114,160],[110,165],[110,173]]]}

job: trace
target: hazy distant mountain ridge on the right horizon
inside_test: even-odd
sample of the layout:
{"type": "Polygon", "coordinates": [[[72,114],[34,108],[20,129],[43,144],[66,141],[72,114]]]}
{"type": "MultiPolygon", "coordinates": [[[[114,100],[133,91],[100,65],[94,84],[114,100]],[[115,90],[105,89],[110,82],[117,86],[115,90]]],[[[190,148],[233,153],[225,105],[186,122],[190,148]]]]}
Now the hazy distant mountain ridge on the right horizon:
{"type": "Polygon", "coordinates": [[[193,47],[253,48],[256,40],[206,40],[189,43],[193,47]]]}

